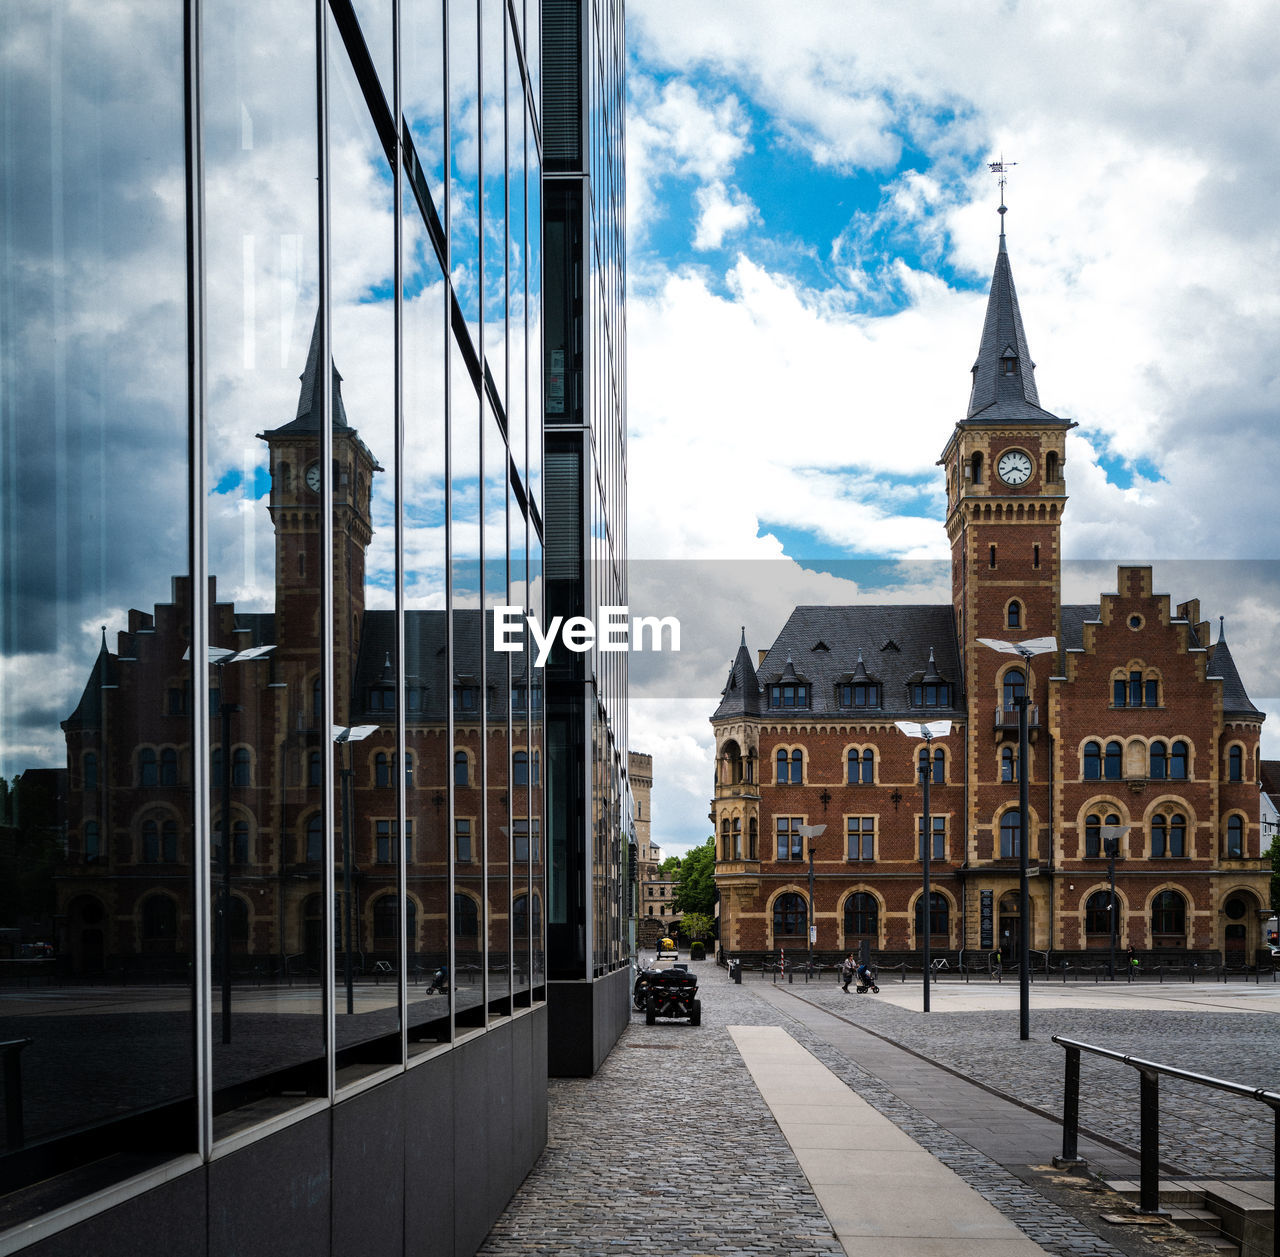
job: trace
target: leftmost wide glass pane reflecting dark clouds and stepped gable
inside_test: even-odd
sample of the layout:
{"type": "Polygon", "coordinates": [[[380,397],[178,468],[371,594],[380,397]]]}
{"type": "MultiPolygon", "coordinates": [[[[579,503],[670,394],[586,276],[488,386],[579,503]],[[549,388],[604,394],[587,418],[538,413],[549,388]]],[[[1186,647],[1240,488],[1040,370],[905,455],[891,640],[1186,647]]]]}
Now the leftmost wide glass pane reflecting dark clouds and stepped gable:
{"type": "Polygon", "coordinates": [[[105,1185],[196,1132],[182,6],[3,26],[0,922],[28,979],[0,1025],[6,1190],[118,1155],[105,1185]],[[143,785],[142,751],[175,777],[143,785]]]}

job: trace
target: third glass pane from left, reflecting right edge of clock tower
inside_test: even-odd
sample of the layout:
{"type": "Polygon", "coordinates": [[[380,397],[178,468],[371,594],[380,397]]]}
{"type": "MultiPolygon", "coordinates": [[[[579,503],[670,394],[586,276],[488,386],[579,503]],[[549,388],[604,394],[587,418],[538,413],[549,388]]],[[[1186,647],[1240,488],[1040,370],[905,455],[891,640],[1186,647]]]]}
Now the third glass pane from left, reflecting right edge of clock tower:
{"type": "MultiPolygon", "coordinates": [[[[385,36],[389,45],[389,27],[385,36]]],[[[398,920],[404,774],[396,730],[396,195],[332,18],[329,147],[333,713],[335,726],[351,731],[334,750],[340,1084],[401,1055],[399,929],[387,931],[398,920]],[[385,786],[378,785],[379,757],[385,786]]]]}

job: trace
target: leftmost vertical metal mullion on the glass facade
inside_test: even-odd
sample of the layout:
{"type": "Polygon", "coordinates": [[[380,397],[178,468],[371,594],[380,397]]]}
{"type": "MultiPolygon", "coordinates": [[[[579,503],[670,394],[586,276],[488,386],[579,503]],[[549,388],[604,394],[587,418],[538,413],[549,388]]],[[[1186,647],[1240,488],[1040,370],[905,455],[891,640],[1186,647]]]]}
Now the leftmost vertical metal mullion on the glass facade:
{"type": "Polygon", "coordinates": [[[212,1152],[214,1069],[209,991],[210,949],[210,809],[209,809],[209,512],[206,509],[207,436],[205,401],[205,151],[201,116],[201,0],[186,0],[183,12],[183,92],[187,173],[187,424],[188,424],[188,564],[191,571],[191,789],[192,789],[192,950],[195,1014],[196,1148],[212,1152]],[[198,684],[197,684],[198,680],[198,684]]]}

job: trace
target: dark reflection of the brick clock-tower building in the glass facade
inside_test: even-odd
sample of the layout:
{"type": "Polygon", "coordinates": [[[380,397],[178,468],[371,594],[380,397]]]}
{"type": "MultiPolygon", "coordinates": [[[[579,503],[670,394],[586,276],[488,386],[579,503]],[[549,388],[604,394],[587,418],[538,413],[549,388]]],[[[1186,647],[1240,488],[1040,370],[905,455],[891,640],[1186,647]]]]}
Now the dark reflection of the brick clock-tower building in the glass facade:
{"type": "MultiPolygon", "coordinates": [[[[317,982],[323,968],[323,655],[315,614],[320,566],[311,404],[316,346],[298,416],[261,434],[270,447],[275,612],[238,613],[210,581],[212,757],[207,771],[215,970],[223,938],[223,795],[229,794],[232,973],[237,981],[317,982]],[[310,593],[308,593],[310,590],[310,593]],[[255,650],[261,648],[261,650],[255,650]],[[227,746],[218,731],[229,733],[227,746]],[[223,757],[229,754],[229,759],[223,757]],[[229,789],[228,789],[229,787],[229,789]]],[[[334,748],[335,940],[361,977],[398,972],[401,855],[411,981],[449,963],[479,991],[488,931],[488,998],[543,981],[541,686],[525,654],[498,654],[480,609],[404,613],[403,694],[393,611],[365,607],[370,495],[381,471],[347,424],[334,372],[334,722],[369,726],[334,748]],[[454,669],[448,676],[452,627],[454,669]],[[481,645],[481,640],[484,645],[481,645]],[[480,652],[488,658],[481,668],[480,652]],[[511,672],[508,675],[508,661],[511,672]],[[484,678],[484,682],[483,680],[484,678]],[[396,713],[404,709],[404,746],[396,713]],[[511,757],[508,762],[508,721],[511,757]],[[401,767],[402,765],[402,767],[401,767]],[[349,778],[348,774],[349,773],[349,778]],[[401,791],[403,777],[403,810],[401,791]],[[344,790],[344,787],[347,787],[344,790]],[[343,859],[349,829],[349,868],[343,859]],[[452,874],[452,900],[451,900],[452,874]],[[349,932],[347,885],[349,882],[349,932]],[[530,888],[534,887],[531,891],[530,888]]],[[[73,973],[184,977],[191,937],[191,585],[172,603],[129,612],[116,650],[102,646],[64,721],[68,863],[58,878],[60,950],[73,973]]],[[[339,960],[339,975],[343,972],[339,960]]],[[[460,991],[460,1001],[463,995],[460,991]]]]}

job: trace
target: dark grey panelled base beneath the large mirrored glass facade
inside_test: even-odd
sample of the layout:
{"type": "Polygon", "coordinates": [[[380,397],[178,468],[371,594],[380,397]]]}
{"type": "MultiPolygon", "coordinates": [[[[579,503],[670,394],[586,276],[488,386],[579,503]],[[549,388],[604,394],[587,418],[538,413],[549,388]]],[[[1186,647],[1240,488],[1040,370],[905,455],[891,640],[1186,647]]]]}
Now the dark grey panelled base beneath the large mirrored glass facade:
{"type": "Polygon", "coordinates": [[[470,1254],[547,1144],[548,1009],[47,1234],[24,1257],[470,1254]]]}

